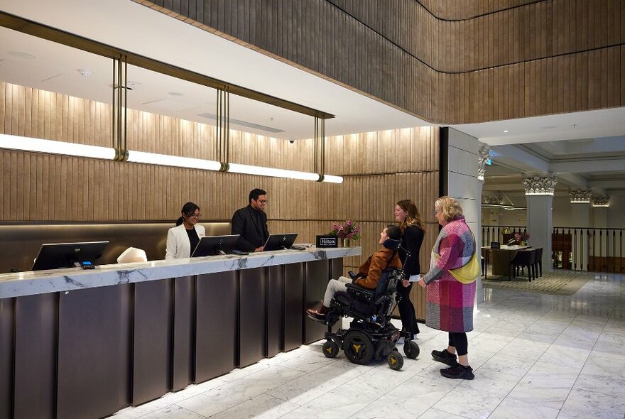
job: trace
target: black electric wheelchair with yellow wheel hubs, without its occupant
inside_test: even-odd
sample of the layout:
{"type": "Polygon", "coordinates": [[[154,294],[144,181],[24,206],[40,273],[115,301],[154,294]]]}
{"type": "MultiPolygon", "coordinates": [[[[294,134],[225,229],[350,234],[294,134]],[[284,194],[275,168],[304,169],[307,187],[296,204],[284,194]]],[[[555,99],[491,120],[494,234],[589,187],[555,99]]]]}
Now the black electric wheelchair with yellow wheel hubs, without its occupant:
{"type": "MultiPolygon", "coordinates": [[[[401,241],[388,239],[384,247],[393,250],[391,261],[399,249],[401,241]]],[[[352,280],[357,275],[349,273],[352,280]]],[[[338,291],[330,302],[325,319],[312,316],[310,319],[327,325],[323,344],[323,354],[335,358],[342,349],[345,357],[354,364],[368,364],[372,359],[384,359],[391,369],[399,370],[403,366],[403,357],[398,352],[396,343],[404,337],[403,352],[406,357],[416,359],[419,346],[408,339],[408,332],[401,332],[391,323],[391,315],[397,305],[397,283],[402,281],[403,268],[386,268],[382,271],[380,281],[375,290],[347,284],[347,291],[338,291]],[[332,327],[342,317],[353,317],[349,329],[332,332],[332,327]]]]}

